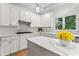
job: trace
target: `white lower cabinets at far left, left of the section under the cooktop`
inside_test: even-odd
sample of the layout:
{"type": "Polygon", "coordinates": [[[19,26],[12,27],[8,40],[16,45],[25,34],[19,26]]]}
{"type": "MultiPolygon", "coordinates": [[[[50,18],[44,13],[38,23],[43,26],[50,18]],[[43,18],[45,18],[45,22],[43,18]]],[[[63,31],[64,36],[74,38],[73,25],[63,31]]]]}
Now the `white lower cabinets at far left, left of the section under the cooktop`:
{"type": "Polygon", "coordinates": [[[1,55],[9,55],[11,53],[14,53],[16,51],[20,50],[19,47],[19,37],[18,36],[12,36],[12,37],[6,37],[1,38],[1,55]]]}

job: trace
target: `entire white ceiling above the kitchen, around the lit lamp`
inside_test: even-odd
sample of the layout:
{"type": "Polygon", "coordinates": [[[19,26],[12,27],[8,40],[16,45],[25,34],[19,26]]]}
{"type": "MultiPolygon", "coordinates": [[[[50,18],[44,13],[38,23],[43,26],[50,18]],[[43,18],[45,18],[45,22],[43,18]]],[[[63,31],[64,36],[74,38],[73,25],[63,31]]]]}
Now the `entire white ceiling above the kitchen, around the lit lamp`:
{"type": "Polygon", "coordinates": [[[77,3],[14,3],[15,5],[28,8],[33,12],[36,12],[36,7],[40,7],[40,12],[38,14],[43,14],[52,11],[56,8],[62,8],[65,6],[75,5],[77,3]]]}

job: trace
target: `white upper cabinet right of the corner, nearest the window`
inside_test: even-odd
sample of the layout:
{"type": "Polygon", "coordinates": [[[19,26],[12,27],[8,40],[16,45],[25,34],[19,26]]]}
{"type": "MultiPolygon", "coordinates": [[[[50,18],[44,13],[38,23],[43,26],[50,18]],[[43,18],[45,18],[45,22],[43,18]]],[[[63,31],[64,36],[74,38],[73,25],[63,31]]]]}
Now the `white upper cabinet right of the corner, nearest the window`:
{"type": "Polygon", "coordinates": [[[50,13],[41,15],[40,24],[41,27],[51,27],[50,13]]]}

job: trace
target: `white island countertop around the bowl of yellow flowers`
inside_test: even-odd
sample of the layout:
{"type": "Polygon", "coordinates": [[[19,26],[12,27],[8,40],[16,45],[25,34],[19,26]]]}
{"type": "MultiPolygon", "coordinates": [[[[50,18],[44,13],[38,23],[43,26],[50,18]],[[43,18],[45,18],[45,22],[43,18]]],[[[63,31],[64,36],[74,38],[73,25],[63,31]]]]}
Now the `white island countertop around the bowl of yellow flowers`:
{"type": "Polygon", "coordinates": [[[27,40],[61,56],[79,56],[79,44],[77,43],[72,43],[73,46],[65,47],[58,45],[59,40],[44,36],[30,37],[27,40]]]}

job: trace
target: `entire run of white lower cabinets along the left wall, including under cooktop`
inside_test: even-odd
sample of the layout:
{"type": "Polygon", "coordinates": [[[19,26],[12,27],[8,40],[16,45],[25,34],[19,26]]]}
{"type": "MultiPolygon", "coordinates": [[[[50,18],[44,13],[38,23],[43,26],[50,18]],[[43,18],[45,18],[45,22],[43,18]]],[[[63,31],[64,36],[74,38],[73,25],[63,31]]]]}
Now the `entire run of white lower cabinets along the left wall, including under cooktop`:
{"type": "Polygon", "coordinates": [[[27,48],[26,38],[31,36],[32,35],[23,34],[0,38],[0,55],[10,55],[19,50],[27,48]]]}

